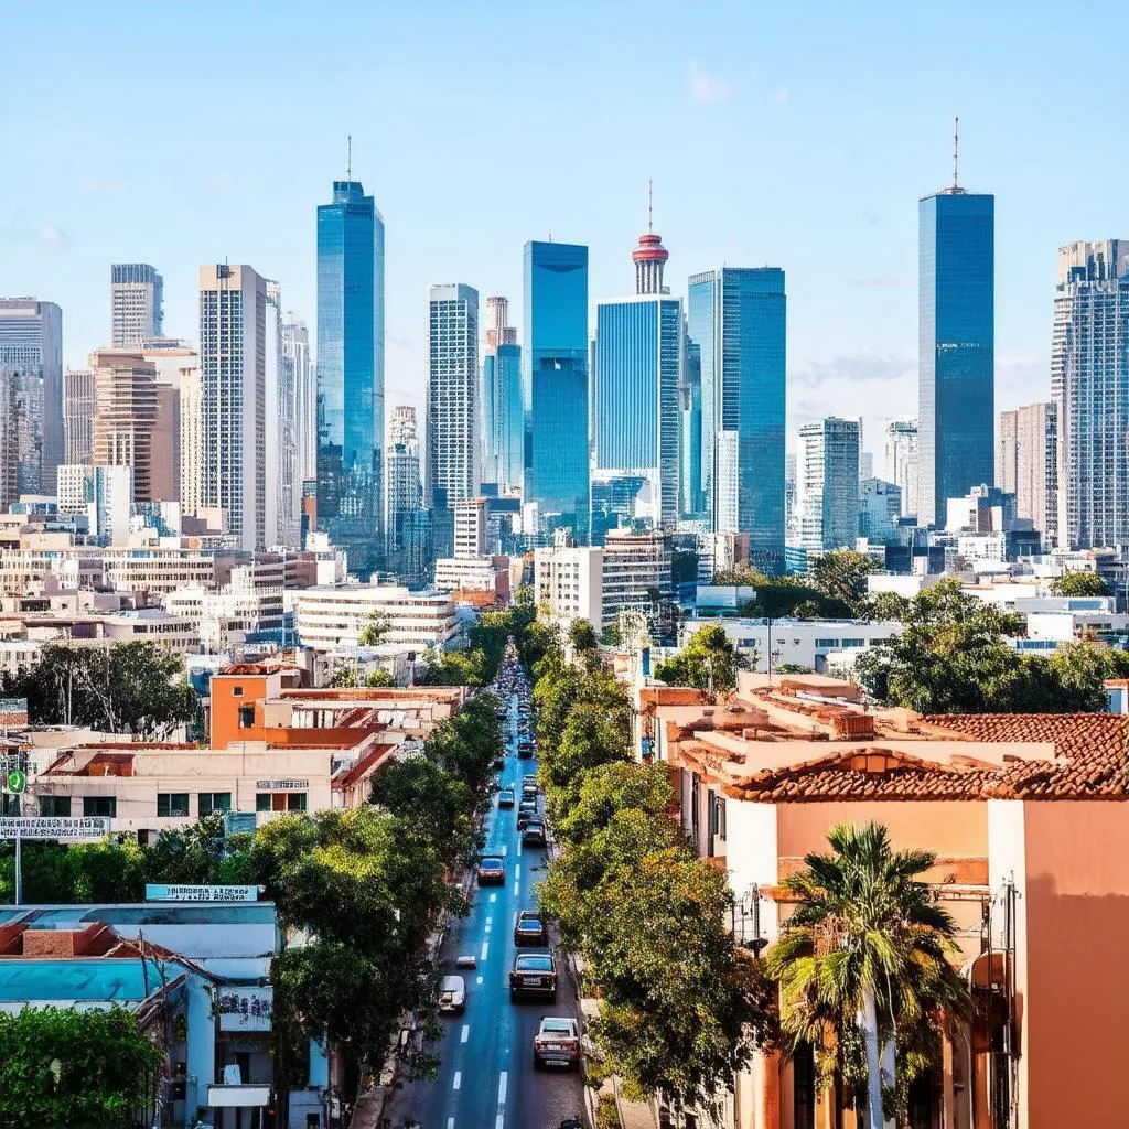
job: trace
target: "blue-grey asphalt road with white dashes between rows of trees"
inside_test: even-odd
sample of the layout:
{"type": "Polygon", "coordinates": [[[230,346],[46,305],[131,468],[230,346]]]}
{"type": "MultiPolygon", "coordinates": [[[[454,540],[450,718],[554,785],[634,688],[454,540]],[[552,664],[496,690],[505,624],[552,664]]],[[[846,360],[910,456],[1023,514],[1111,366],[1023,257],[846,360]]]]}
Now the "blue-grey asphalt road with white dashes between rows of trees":
{"type": "MultiPolygon", "coordinates": [[[[511,701],[501,784],[522,794],[522,777],[535,772],[535,759],[517,756],[517,702],[511,701]]],[[[518,910],[536,908],[534,894],[544,875],[545,852],[522,848],[517,809],[495,806],[485,824],[484,854],[506,859],[506,884],[476,884],[470,914],[450,928],[440,959],[455,973],[455,957],[473,954],[478,969],[457,970],[466,981],[466,1012],[444,1016],[439,1077],[405,1083],[391,1106],[393,1129],[414,1119],[422,1129],[558,1129],[564,1118],[583,1117],[577,1071],[533,1068],[533,1036],[543,1015],[578,1014],[576,986],[558,954],[557,1003],[510,1003],[514,922],[518,910]]]]}

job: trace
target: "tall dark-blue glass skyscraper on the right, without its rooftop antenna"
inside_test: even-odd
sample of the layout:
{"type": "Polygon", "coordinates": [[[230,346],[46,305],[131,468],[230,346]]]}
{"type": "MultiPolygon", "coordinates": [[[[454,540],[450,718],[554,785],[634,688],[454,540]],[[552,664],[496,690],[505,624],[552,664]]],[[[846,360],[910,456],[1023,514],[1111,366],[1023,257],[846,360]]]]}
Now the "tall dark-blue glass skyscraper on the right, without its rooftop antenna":
{"type": "Polygon", "coordinates": [[[995,196],[918,204],[918,524],[995,474],[995,196]]]}

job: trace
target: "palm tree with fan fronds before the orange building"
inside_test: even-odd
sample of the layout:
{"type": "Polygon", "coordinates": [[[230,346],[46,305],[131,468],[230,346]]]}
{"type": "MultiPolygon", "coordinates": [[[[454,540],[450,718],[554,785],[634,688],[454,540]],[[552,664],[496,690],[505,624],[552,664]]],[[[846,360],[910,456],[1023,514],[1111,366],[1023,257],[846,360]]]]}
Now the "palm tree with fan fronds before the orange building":
{"type": "Polygon", "coordinates": [[[936,855],[893,850],[877,823],[837,824],[828,841],[832,854],[809,854],[782,883],[798,904],[768,970],[793,1049],[809,1043],[824,1078],[865,1086],[866,1124],[883,1129],[883,1083],[896,1083],[902,1106],[930,1065],[942,1014],[968,1016],[971,999],[948,962],[953,919],[918,881],[936,855]]]}

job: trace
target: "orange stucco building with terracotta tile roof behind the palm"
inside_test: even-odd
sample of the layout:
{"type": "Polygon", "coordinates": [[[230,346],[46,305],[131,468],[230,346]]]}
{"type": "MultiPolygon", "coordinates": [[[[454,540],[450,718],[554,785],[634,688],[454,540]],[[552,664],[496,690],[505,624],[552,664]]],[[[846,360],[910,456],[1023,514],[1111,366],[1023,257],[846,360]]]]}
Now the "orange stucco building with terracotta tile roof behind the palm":
{"type": "MultiPolygon", "coordinates": [[[[1129,717],[875,712],[857,688],[742,674],[710,703],[639,693],[641,749],[668,763],[682,825],[729,874],[738,940],[763,951],[780,882],[839,822],[885,824],[937,855],[957,963],[979,1014],[952,1023],[914,1094],[913,1129],[1129,1126],[1114,1083],[1129,1005],[1129,717]]],[[[852,1129],[809,1056],[760,1057],[726,1111],[737,1129],[852,1129]]]]}

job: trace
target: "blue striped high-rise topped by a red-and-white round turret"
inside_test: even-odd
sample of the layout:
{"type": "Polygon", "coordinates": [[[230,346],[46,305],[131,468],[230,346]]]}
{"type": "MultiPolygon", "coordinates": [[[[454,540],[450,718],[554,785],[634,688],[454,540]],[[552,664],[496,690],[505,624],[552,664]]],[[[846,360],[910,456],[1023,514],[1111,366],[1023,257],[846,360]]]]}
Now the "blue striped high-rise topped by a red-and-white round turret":
{"type": "Polygon", "coordinates": [[[596,478],[645,478],[656,527],[673,531],[685,318],[682,299],[659,289],[667,254],[659,236],[641,236],[632,256],[639,292],[596,306],[592,455],[596,478]]]}

